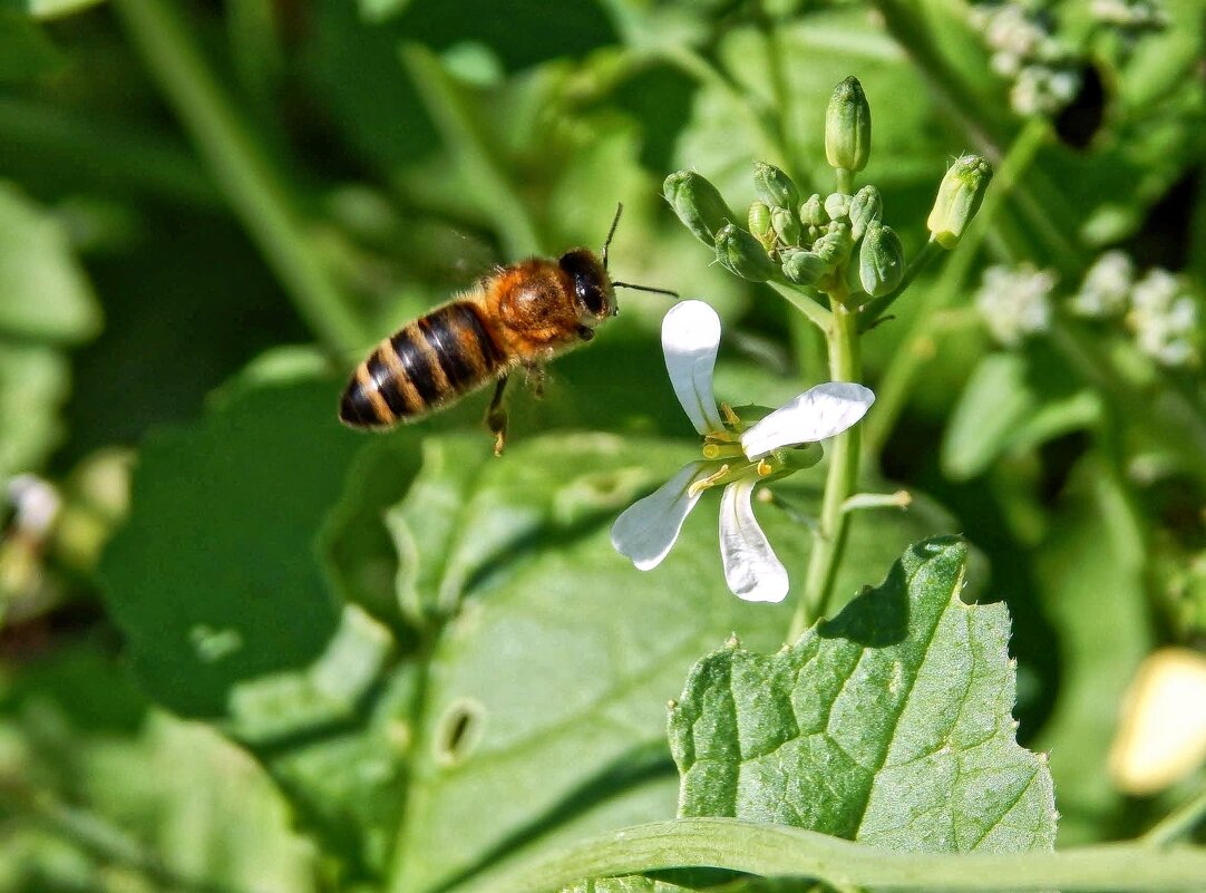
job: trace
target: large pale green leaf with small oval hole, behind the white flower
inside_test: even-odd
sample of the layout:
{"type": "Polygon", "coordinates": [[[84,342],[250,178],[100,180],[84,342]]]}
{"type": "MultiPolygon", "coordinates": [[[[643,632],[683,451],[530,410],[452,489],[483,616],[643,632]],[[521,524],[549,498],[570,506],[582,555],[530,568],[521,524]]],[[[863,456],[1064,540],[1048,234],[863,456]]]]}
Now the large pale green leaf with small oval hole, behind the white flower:
{"type": "MultiPolygon", "coordinates": [[[[473,461],[478,439],[428,439],[423,469],[390,514],[402,596],[428,606],[425,617],[459,605],[427,669],[397,891],[673,815],[662,705],[701,653],[734,630],[774,648],[791,613],[725,588],[714,495],[656,570],[614,551],[611,521],[691,459],[685,443],[546,436],[473,461]]],[[[807,526],[759,510],[802,574],[807,526]]],[[[924,510],[860,513],[839,590],[880,572],[915,531],[946,524],[924,510]]]]}

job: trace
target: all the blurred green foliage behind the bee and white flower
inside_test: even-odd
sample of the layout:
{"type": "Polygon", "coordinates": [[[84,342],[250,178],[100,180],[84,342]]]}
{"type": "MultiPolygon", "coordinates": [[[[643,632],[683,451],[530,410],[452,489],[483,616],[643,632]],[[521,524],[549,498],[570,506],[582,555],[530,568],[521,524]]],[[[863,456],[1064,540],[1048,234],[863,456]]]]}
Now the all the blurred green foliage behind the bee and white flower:
{"type": "MultiPolygon", "coordinates": [[[[914,502],[855,516],[837,591],[965,535],[1061,842],[1198,790],[1200,765],[1137,795],[1107,763],[1144,658],[1206,642],[1201,364],[1070,314],[1005,350],[971,309],[991,263],[1071,293],[1110,246],[1206,276],[1202,5],[1137,37],[1090,6],[1053,7],[1055,33],[1100,94],[1050,121],[1011,111],[938,0],[0,8],[0,483],[59,498],[37,536],[0,519],[0,891],[437,891],[673,817],[667,699],[731,634],[775,650],[790,606],[728,594],[702,508],[654,572],[611,548],[696,449],[663,299],[622,293],[543,401],[516,389],[502,460],[485,395],[368,437],[339,387],[493,264],[597,249],[622,202],[613,273],[718,308],[718,397],[789,399],[825,377],[820,339],[660,185],[703,173],[738,223],[755,160],[827,193],[851,74],[908,256],[950,158],[997,176],[863,338],[865,485],[914,502]]],[[[821,480],[759,507],[794,580],[821,480]]]]}

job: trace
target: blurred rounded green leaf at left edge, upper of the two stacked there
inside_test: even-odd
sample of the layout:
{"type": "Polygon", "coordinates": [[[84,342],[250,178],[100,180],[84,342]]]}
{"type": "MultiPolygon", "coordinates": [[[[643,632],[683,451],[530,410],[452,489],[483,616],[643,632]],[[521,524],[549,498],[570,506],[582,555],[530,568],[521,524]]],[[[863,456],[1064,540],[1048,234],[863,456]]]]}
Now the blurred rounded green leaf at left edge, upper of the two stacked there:
{"type": "Polygon", "coordinates": [[[0,334],[77,342],[100,310],[66,232],[17,187],[0,182],[0,334]]]}

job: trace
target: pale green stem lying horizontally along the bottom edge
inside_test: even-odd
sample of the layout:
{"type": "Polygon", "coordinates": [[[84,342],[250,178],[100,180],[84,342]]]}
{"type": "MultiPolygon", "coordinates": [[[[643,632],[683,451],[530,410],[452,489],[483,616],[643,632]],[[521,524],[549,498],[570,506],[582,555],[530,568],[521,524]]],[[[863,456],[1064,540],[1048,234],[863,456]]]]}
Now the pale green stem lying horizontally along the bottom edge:
{"type": "Polygon", "coordinates": [[[591,877],[719,868],[762,877],[813,877],[838,888],[932,893],[1061,889],[1157,893],[1201,889],[1206,852],[1137,845],[1060,853],[906,853],[785,825],[683,818],[615,831],[479,875],[456,893],[545,893],[591,877]]]}

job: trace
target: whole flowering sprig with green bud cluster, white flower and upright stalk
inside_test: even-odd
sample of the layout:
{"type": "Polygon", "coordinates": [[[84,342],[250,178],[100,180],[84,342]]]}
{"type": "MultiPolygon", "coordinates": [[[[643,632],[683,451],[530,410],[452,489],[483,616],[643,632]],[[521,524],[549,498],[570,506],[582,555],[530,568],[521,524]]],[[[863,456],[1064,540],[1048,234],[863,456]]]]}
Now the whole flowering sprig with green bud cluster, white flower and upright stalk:
{"type": "MultiPolygon", "coordinates": [[[[814,463],[818,442],[827,440],[825,492],[815,526],[809,521],[813,548],[788,641],[825,615],[849,535],[862,451],[856,422],[874,401],[860,384],[859,339],[885,319],[884,311],[926,265],[964,239],[993,177],[985,159],[960,156],[926,220],[931,238],[909,258],[897,230],[884,220],[879,189],[872,183],[855,189],[871,140],[870,104],[857,78],[848,77],[833,89],[825,118],[825,154],[837,185],[829,195],[807,195],[786,170],[767,162],[755,164],[756,200],[740,217],[696,171],[671,174],[663,187],[683,224],[714,249],[721,267],[769,285],[824,335],[829,381],[769,416],[720,419],[710,384],[719,317],[712,321],[698,307],[671,311],[662,328],[667,368],[684,410],[704,438],[703,450],[701,459],[617,519],[613,543],[634,566],[651,570],[669,550],[699,495],[722,488],[721,553],[730,589],[749,601],[779,601],[788,594],[788,573],[754,519],[750,495],[755,484],[772,484],[814,463]],[[672,321],[675,315],[679,319],[672,321]],[[703,358],[697,368],[687,361],[692,355],[703,358]],[[772,445],[751,448],[760,439],[772,445]],[[815,457],[810,446],[816,448],[815,457]]],[[[798,328],[796,340],[801,342],[798,328]]]]}

